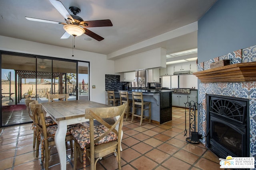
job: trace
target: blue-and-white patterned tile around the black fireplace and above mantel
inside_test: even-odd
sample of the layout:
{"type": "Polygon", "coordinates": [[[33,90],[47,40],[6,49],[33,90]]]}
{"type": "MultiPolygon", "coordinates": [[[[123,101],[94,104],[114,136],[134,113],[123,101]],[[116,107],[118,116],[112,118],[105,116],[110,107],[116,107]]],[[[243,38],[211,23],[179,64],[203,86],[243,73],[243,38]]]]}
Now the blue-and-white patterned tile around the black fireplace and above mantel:
{"type": "MultiPolygon", "coordinates": [[[[210,61],[200,63],[198,64],[198,71],[205,72],[204,70],[210,69],[210,63],[213,63],[222,59],[229,59],[230,64],[256,62],[256,45],[252,47],[248,47],[246,49],[240,49],[238,51],[234,51],[232,53],[229,53],[228,55],[216,57],[210,61]]],[[[256,70],[256,64],[254,64],[254,66],[252,66],[251,69],[256,70]]],[[[240,70],[240,72],[243,72],[241,71],[240,67],[238,68],[238,70],[240,70]]],[[[247,71],[247,72],[249,73],[250,71],[247,71]]],[[[229,74],[229,73],[226,73],[226,74],[229,74]]],[[[226,74],[224,76],[226,76],[226,74]]],[[[253,74],[255,74],[255,71],[253,74]]],[[[219,75],[219,77],[221,76],[223,76],[223,74],[219,75]]],[[[199,108],[198,132],[203,136],[206,136],[206,112],[207,112],[206,111],[206,105],[207,105],[206,94],[231,96],[236,98],[245,98],[249,100],[250,146],[247,146],[247,147],[250,147],[250,156],[254,158],[256,158],[256,81],[255,81],[255,77],[252,78],[253,81],[248,81],[248,78],[246,80],[242,80],[238,78],[238,82],[235,82],[235,80],[229,81],[228,79],[225,82],[225,81],[222,81],[223,77],[220,82],[218,82],[217,79],[216,81],[214,80],[212,82],[210,80],[206,80],[203,83],[199,84],[199,101],[198,101],[200,104],[202,104],[201,107],[199,108]]],[[[200,77],[198,78],[200,79],[200,77]]],[[[232,79],[231,76],[230,76],[230,79],[232,79]]],[[[204,145],[206,145],[205,138],[202,139],[201,142],[204,145]]]]}

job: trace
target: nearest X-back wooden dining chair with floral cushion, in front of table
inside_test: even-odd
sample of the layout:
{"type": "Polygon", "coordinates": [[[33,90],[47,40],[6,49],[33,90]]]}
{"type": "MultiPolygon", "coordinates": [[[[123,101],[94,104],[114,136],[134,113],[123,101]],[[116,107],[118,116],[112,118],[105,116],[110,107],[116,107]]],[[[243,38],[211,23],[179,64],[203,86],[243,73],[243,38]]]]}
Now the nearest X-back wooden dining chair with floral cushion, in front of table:
{"type": "Polygon", "coordinates": [[[89,119],[89,128],[82,127],[71,131],[75,141],[74,170],[76,169],[76,159],[80,155],[79,150],[84,153],[84,170],[86,168],[86,156],[90,160],[90,169],[96,170],[98,160],[113,152],[117,155],[118,169],[121,169],[121,134],[126,107],[127,104],[123,104],[115,107],[88,108],[85,110],[85,118],[89,119]],[[110,125],[103,120],[105,118],[114,118],[115,123],[110,125]],[[101,125],[94,125],[95,120],[101,125]],[[94,130],[90,131],[90,129],[94,130]]]}

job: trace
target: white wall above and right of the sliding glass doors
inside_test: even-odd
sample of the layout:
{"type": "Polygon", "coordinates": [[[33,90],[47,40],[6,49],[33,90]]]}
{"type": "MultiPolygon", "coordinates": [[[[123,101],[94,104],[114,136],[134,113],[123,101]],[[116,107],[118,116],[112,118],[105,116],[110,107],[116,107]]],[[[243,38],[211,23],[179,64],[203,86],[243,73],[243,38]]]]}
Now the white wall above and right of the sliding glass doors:
{"type": "Polygon", "coordinates": [[[0,50],[90,62],[90,100],[107,104],[105,74],[114,74],[114,61],[106,55],[0,36],[0,50]],[[92,89],[92,85],[96,88],[92,89]]]}

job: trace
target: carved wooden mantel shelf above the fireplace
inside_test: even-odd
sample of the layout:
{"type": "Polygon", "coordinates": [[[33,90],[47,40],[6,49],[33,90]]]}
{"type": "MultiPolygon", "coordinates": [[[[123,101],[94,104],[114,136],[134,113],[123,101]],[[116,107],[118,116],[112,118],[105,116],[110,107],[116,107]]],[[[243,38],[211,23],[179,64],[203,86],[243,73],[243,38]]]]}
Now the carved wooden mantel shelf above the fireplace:
{"type": "Polygon", "coordinates": [[[255,82],[256,62],[238,63],[193,73],[203,83],[255,82]]]}

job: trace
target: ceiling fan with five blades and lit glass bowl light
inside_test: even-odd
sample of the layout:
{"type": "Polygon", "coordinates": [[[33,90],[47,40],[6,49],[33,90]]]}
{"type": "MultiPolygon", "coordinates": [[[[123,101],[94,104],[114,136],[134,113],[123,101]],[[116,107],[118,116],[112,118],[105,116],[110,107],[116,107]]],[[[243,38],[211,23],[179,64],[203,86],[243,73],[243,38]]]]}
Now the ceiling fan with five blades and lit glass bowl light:
{"type": "Polygon", "coordinates": [[[93,21],[84,21],[81,17],[77,16],[80,12],[80,9],[74,6],[69,7],[70,12],[73,15],[70,15],[68,10],[64,7],[62,2],[59,0],[49,0],[51,4],[56,8],[58,12],[65,18],[66,23],[58,22],[58,21],[51,21],[51,20],[43,20],[38,18],[30,18],[25,17],[27,20],[31,21],[39,21],[39,22],[46,22],[46,23],[55,23],[64,25],[63,28],[65,29],[65,33],[62,35],[61,39],[66,39],[70,37],[70,35],[76,37],[80,36],[83,33],[98,40],[102,41],[104,38],[100,35],[90,31],[87,27],[109,27],[113,26],[110,20],[93,20],[93,21]]]}

